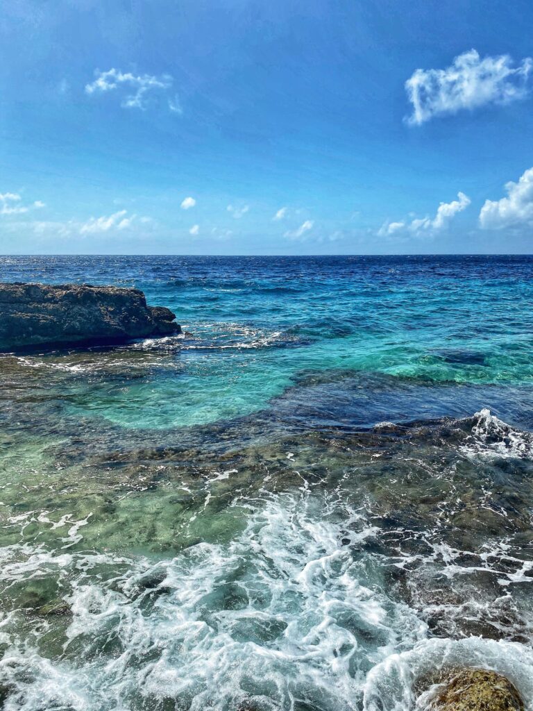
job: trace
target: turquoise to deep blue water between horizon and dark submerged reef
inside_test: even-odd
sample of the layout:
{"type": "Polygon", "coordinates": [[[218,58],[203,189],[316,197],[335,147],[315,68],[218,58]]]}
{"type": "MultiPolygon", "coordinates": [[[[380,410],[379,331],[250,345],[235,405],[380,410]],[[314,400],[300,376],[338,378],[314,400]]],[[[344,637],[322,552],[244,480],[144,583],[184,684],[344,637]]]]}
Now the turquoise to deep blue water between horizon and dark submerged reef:
{"type": "MultiPolygon", "coordinates": [[[[4,260],[2,278],[135,285],[173,309],[192,337],[140,344],[158,354],[139,358],[144,377],[109,387],[96,372],[71,401],[79,415],[163,429],[248,415],[306,373],[335,372],[471,387],[471,402],[452,398],[439,415],[472,414],[494,390],[489,404],[519,417],[517,389],[533,382],[532,268],[529,257],[55,257],[4,260]]],[[[435,395],[422,398],[402,415],[431,412],[435,395]]]]}

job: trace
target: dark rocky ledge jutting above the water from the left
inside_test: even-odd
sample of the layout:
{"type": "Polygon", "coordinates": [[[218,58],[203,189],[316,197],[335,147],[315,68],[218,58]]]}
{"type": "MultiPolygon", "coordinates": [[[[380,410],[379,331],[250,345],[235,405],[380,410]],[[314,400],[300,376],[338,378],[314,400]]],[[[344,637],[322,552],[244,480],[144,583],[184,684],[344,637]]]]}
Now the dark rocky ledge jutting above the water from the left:
{"type": "Polygon", "coordinates": [[[175,314],[139,289],[89,284],[0,284],[0,351],[120,343],[181,333],[175,314]]]}

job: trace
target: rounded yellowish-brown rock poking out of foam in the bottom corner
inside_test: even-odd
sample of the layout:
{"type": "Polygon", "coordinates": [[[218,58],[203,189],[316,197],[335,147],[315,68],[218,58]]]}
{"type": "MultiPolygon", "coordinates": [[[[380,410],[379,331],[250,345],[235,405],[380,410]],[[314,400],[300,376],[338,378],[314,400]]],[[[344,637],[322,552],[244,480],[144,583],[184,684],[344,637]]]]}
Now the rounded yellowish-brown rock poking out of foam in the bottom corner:
{"type": "Polygon", "coordinates": [[[515,685],[488,669],[454,670],[441,685],[432,711],[523,711],[515,685]]]}

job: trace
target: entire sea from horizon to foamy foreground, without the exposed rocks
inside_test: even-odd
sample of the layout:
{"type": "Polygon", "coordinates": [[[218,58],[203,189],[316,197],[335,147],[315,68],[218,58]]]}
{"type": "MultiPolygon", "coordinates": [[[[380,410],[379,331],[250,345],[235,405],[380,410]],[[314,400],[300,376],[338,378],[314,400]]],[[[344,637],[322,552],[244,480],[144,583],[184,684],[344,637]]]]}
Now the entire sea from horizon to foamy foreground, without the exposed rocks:
{"type": "Polygon", "coordinates": [[[5,711],[533,710],[533,257],[0,257],[190,335],[0,355],[5,711]]]}

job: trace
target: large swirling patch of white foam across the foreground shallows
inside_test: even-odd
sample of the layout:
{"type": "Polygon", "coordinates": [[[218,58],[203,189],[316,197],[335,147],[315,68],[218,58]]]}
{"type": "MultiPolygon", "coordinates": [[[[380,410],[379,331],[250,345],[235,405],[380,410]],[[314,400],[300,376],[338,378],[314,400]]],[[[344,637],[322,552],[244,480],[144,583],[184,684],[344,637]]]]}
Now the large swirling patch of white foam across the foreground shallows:
{"type": "Polygon", "coordinates": [[[198,711],[246,700],[356,708],[367,671],[423,639],[424,622],[384,594],[379,567],[354,558],[374,535],[357,512],[339,518],[305,487],[249,506],[229,546],[200,543],[173,560],[4,550],[4,582],[60,577],[72,611],[53,659],[42,620],[31,634],[12,616],[2,621],[6,711],[157,708],[164,699],[198,711]]]}

